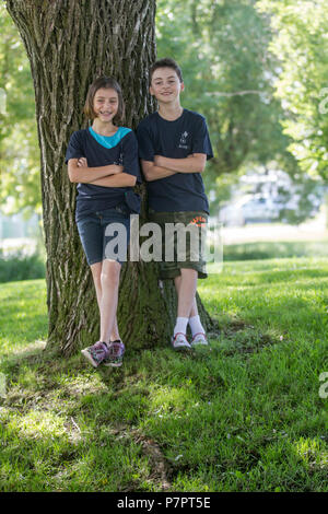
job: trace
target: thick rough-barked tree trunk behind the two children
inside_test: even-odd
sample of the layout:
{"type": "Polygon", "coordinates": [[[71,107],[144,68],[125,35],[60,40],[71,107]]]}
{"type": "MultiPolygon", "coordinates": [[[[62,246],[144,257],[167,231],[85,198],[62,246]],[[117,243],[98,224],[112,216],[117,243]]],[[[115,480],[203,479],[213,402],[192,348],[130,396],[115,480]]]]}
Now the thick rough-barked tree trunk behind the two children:
{"type": "MultiPolygon", "coordinates": [[[[65,153],[71,133],[86,127],[82,107],[98,74],[114,75],[121,85],[127,127],[136,128],[153,110],[147,70],[155,59],[155,0],[7,0],[7,7],[26,47],[35,87],[48,348],[69,355],[98,338],[98,309],[75,227],[77,192],[65,153]]],[[[210,317],[199,307],[209,327],[210,317]]],[[[159,287],[154,264],[124,266],[118,324],[128,344],[166,344],[175,312],[173,284],[159,287]]]]}

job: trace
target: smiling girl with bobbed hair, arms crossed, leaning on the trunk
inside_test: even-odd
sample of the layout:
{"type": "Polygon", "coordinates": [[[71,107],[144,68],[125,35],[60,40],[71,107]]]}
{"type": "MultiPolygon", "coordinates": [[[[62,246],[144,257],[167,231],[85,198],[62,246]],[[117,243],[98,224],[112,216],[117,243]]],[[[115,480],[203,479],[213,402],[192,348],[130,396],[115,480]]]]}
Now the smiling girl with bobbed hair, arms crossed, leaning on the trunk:
{"type": "Polygon", "coordinates": [[[92,126],[72,135],[66,163],[70,180],[78,183],[75,221],[96,290],[101,337],[82,354],[95,367],[102,362],[119,366],[125,346],[116,311],[130,213],[139,212],[132,192],[136,182],[140,182],[138,144],[131,129],[117,125],[124,118],[124,101],[113,78],[99,77],[91,84],[84,114],[92,126]],[[113,249],[114,232],[119,235],[118,254],[114,253],[117,245],[113,249]]]}

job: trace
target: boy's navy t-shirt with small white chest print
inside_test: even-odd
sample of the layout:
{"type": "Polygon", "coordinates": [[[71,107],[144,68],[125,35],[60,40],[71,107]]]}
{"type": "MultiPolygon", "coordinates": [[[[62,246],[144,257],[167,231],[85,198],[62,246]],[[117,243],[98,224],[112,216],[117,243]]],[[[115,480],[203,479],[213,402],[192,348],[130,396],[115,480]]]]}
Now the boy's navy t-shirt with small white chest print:
{"type": "MultiPolygon", "coordinates": [[[[154,161],[154,155],[185,159],[192,153],[213,156],[206,118],[184,109],[174,121],[153,113],[138,126],[139,156],[154,161]]],[[[206,211],[209,202],[200,173],[176,173],[147,183],[149,207],[156,212],[206,211]]]]}

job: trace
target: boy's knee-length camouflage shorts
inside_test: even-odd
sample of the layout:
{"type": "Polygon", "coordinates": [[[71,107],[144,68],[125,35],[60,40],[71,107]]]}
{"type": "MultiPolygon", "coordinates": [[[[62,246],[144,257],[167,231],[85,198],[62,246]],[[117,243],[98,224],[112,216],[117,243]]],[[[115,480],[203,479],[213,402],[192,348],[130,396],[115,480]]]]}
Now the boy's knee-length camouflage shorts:
{"type": "Polygon", "coordinates": [[[198,271],[198,278],[206,279],[208,274],[203,254],[208,226],[207,212],[150,210],[149,220],[162,229],[160,278],[174,279],[181,274],[180,269],[191,268],[198,271]]]}

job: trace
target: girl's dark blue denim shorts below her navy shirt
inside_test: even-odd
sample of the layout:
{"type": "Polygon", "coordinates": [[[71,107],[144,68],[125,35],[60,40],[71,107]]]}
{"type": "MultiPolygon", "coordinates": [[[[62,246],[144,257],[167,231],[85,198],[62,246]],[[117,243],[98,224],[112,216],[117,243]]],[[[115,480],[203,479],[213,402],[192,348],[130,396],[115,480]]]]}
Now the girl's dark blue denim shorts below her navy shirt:
{"type": "Polygon", "coordinates": [[[127,260],[130,210],[125,203],[89,213],[77,224],[89,266],[105,259],[120,265],[127,260]]]}

